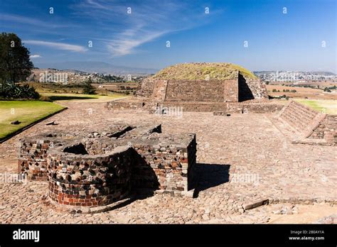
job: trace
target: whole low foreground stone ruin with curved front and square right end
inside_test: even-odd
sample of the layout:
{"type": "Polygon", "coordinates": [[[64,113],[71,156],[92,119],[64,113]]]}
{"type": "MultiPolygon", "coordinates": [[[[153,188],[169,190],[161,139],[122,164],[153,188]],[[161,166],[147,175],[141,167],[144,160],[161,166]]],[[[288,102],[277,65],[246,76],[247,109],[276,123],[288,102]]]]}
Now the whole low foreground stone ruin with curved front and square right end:
{"type": "MultiPolygon", "coordinates": [[[[49,136],[49,135],[48,135],[49,136]]],[[[100,207],[146,189],[180,197],[194,186],[196,135],[162,135],[157,126],[21,141],[18,172],[48,180],[48,193],[69,207],[100,207]]]]}

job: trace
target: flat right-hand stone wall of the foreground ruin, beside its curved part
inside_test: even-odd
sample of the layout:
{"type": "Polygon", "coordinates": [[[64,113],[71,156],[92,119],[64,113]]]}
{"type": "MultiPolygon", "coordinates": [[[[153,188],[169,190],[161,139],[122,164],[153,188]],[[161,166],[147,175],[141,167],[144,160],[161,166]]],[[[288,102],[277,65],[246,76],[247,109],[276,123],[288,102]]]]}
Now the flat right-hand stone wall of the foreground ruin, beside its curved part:
{"type": "Polygon", "coordinates": [[[135,166],[138,172],[134,172],[133,181],[138,182],[140,186],[144,182],[147,186],[149,186],[149,183],[155,185],[155,182],[151,182],[154,181],[153,177],[144,176],[144,171],[151,169],[154,170],[159,182],[158,193],[168,193],[180,197],[182,192],[187,192],[193,187],[196,164],[195,136],[188,146],[174,144],[146,146],[137,144],[134,148],[145,161],[145,163],[137,162],[137,166],[135,166]],[[147,181],[144,181],[144,177],[147,178],[147,181]]]}

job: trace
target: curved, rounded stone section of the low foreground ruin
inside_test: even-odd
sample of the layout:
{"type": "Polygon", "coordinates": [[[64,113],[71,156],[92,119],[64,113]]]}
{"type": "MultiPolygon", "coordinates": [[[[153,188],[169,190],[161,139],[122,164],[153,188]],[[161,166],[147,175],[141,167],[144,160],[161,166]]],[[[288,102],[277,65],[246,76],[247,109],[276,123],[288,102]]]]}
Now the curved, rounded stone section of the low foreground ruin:
{"type": "Polygon", "coordinates": [[[99,207],[127,197],[131,190],[131,148],[100,155],[86,153],[82,143],[48,154],[48,195],[58,204],[99,207]]]}

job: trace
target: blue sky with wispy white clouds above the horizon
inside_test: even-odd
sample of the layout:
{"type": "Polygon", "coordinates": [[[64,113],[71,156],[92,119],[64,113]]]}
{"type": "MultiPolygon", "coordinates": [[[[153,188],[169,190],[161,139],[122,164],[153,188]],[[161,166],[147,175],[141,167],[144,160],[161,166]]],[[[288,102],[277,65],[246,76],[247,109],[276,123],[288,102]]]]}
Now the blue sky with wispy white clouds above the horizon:
{"type": "Polygon", "coordinates": [[[0,31],[16,33],[35,65],[232,62],[337,72],[336,22],[335,0],[0,0],[0,31]]]}

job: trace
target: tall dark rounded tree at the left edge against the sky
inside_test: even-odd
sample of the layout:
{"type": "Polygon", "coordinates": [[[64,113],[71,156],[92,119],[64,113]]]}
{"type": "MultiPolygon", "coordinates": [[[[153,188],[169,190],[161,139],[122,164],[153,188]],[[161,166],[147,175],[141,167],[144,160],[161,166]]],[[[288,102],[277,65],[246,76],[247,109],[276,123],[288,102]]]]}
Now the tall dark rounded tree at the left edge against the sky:
{"type": "Polygon", "coordinates": [[[15,33],[0,34],[0,80],[20,82],[31,75],[33,62],[29,50],[15,33]]]}

